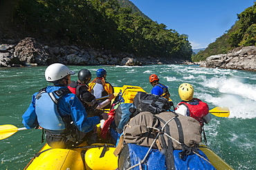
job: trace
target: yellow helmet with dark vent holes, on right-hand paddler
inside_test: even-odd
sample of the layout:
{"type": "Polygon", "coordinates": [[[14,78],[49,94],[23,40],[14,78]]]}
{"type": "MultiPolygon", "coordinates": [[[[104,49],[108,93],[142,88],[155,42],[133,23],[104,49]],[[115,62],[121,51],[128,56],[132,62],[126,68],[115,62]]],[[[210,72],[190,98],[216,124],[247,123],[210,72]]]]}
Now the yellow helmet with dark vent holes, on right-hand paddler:
{"type": "Polygon", "coordinates": [[[193,98],[194,89],[189,83],[182,83],[179,87],[179,96],[181,100],[189,101],[193,98]]]}

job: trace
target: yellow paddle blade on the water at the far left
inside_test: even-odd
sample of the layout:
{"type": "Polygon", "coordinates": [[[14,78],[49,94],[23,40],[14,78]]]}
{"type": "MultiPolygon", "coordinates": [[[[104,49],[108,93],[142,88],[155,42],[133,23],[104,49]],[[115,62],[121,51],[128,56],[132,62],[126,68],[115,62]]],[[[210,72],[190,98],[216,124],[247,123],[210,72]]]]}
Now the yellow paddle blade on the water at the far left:
{"type": "Polygon", "coordinates": [[[8,138],[15,134],[17,131],[26,130],[26,127],[15,127],[15,125],[0,125],[0,140],[8,138]]]}

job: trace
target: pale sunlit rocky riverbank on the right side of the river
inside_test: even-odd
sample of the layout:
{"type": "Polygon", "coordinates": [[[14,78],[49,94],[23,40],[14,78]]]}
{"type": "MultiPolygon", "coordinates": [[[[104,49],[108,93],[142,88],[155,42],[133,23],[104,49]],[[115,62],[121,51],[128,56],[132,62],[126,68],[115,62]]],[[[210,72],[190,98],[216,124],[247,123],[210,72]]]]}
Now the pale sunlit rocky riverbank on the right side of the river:
{"type": "Polygon", "coordinates": [[[227,54],[209,56],[200,67],[256,71],[256,47],[237,47],[227,54]]]}

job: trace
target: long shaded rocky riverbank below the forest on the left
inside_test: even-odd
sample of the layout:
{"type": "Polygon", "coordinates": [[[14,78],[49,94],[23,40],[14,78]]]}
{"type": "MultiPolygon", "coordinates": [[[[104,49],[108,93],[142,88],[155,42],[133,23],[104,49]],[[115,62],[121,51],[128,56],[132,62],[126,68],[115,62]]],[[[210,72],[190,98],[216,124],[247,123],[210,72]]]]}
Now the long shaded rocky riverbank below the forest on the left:
{"type": "Polygon", "coordinates": [[[115,54],[110,50],[69,46],[48,46],[27,37],[17,44],[0,44],[0,67],[27,65],[149,65],[149,64],[194,64],[181,59],[145,58],[129,53],[115,54]]]}

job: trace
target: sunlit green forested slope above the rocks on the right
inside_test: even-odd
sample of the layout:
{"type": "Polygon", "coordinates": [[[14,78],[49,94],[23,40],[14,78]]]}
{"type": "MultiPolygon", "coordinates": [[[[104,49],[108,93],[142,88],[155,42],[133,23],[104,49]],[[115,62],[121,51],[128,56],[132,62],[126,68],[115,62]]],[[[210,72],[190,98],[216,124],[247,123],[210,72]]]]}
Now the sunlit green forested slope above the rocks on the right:
{"type": "Polygon", "coordinates": [[[237,14],[237,19],[230,30],[210,43],[204,51],[192,56],[192,61],[204,61],[208,56],[224,54],[241,45],[256,45],[256,2],[237,14]]]}

